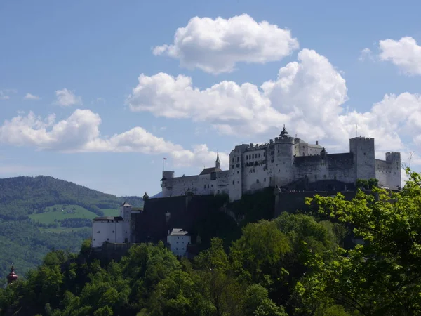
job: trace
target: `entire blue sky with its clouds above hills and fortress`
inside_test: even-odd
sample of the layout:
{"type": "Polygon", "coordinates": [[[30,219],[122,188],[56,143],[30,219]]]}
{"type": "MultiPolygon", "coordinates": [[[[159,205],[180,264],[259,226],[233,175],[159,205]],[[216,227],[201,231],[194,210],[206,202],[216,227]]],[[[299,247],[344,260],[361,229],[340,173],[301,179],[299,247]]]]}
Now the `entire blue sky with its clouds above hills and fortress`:
{"type": "Polygon", "coordinates": [[[163,157],[179,176],[213,165],[217,150],[227,166],[234,145],[283,124],[328,152],[347,151],[358,124],[377,157],[414,151],[417,169],[420,8],[0,1],[0,177],[153,195],[163,157]]]}

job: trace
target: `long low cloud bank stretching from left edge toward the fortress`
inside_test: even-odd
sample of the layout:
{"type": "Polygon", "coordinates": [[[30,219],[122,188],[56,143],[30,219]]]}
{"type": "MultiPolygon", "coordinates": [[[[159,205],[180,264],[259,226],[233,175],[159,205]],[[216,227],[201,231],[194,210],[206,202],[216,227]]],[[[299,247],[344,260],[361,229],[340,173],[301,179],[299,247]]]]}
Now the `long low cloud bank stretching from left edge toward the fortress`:
{"type": "MultiPolygon", "coordinates": [[[[29,112],[4,121],[0,126],[0,143],[14,146],[32,146],[38,150],[60,152],[141,152],[168,154],[175,166],[203,166],[214,164],[216,152],[206,145],[187,150],[181,145],[154,136],[142,127],[115,134],[100,136],[101,118],[91,110],[75,110],[67,119],[56,121],[55,114],[45,119],[29,112]]],[[[220,153],[227,166],[227,154],[220,153]]]]}

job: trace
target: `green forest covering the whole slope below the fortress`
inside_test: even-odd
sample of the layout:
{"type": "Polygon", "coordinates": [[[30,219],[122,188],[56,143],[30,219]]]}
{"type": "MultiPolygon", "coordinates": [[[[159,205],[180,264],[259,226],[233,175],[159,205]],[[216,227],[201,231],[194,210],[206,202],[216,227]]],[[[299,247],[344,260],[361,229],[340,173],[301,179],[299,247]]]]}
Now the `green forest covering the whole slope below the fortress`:
{"type": "Polygon", "coordinates": [[[311,211],[248,223],[192,260],[163,242],[119,262],[94,260],[89,240],[78,254],[51,251],[0,290],[0,314],[420,315],[421,176],[407,172],[401,192],[315,195],[311,211]],[[363,242],[345,249],[350,233],[363,242]]]}

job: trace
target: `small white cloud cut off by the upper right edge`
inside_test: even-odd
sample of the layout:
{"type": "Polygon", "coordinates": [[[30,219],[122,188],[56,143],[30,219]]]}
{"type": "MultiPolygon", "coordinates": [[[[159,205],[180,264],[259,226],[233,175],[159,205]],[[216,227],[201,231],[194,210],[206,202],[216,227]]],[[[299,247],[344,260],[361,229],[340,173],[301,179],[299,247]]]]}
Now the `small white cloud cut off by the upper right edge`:
{"type": "Polygon", "coordinates": [[[421,74],[421,46],[417,45],[415,39],[385,39],[379,41],[379,46],[380,60],[392,62],[405,74],[421,74]]]}

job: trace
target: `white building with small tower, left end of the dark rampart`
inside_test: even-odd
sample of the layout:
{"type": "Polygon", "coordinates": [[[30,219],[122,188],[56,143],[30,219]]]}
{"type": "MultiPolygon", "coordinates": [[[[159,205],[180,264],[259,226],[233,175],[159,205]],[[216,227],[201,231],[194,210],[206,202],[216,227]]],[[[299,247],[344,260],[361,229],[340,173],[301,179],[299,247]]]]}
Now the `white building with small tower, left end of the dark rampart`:
{"type": "Polygon", "coordinates": [[[103,242],[130,242],[131,235],[131,205],[123,203],[120,206],[121,216],[104,216],[92,220],[92,246],[102,246],[103,242]]]}

